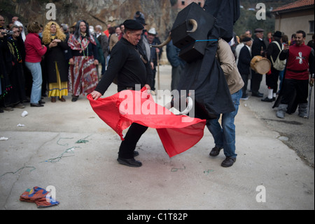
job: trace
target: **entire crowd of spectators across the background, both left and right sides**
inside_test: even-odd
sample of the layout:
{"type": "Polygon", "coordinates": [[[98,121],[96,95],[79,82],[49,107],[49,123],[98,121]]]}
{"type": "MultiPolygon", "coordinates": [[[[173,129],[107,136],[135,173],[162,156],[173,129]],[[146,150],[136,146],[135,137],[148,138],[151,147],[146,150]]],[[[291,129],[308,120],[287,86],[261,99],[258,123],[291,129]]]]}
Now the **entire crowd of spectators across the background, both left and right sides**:
{"type": "MultiPolygon", "coordinates": [[[[145,27],[139,44],[146,57],[150,59],[153,71],[151,91],[154,93],[155,87],[158,87],[155,86],[155,73],[162,48],[151,48],[151,45],[160,44],[160,39],[155,27],[146,29],[143,13],[139,11],[135,13],[134,20],[145,27]]],[[[274,102],[276,95],[284,88],[286,68],[290,62],[290,55],[286,52],[290,49],[288,46],[295,46],[297,43],[302,45],[305,40],[305,33],[302,31],[292,34],[290,39],[288,35],[279,31],[269,32],[267,37],[264,37],[264,32],[259,28],[255,29],[253,34],[251,30],[246,30],[244,34],[235,34],[228,43],[244,81],[241,100],[247,100],[248,94],[251,93],[252,97],[261,98],[262,102],[274,102]],[[265,98],[259,91],[263,75],[251,67],[251,60],[257,55],[271,62],[271,69],[265,75],[268,88],[265,98]]],[[[50,21],[46,25],[38,22],[22,25],[16,16],[11,21],[6,21],[0,15],[0,112],[24,108],[25,103],[30,103],[31,107],[43,107],[44,97],[48,97],[52,103],[56,103],[57,100],[65,102],[64,96],[70,93],[71,101],[76,102],[80,95],[92,93],[99,79],[106,73],[113,47],[123,35],[123,24],[116,27],[107,25],[106,30],[102,25],[90,26],[85,20],[74,22],[71,26],[59,25],[55,21],[50,21]]],[[[313,49],[312,58],[311,54],[307,55],[306,73],[314,73],[314,35],[305,46],[313,49]]],[[[166,50],[167,59],[172,65],[171,87],[174,90],[179,84],[186,62],[179,58],[179,49],[172,41],[166,50]]],[[[294,78],[294,75],[291,74],[290,78],[294,78]]],[[[305,98],[306,93],[301,94],[305,98]]],[[[293,95],[286,96],[286,110],[290,104],[288,97],[293,98],[293,95]]],[[[304,100],[304,107],[306,103],[304,100]]],[[[279,104],[282,107],[282,103],[279,104]]],[[[305,117],[304,112],[299,115],[305,117]]],[[[281,116],[283,118],[283,115],[281,116]]]]}

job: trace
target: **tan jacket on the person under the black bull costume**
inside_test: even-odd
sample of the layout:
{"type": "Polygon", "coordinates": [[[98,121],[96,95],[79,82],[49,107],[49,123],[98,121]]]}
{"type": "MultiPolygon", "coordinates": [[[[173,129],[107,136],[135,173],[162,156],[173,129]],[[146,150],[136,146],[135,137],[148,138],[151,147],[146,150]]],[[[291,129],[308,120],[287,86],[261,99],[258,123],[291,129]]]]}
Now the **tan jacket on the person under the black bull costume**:
{"type": "Polygon", "coordinates": [[[232,53],[230,45],[223,39],[218,40],[218,50],[216,51],[221,68],[225,74],[225,79],[228,83],[231,95],[239,91],[244,86],[244,81],[241,79],[241,74],[237,69],[235,56],[232,53]]]}

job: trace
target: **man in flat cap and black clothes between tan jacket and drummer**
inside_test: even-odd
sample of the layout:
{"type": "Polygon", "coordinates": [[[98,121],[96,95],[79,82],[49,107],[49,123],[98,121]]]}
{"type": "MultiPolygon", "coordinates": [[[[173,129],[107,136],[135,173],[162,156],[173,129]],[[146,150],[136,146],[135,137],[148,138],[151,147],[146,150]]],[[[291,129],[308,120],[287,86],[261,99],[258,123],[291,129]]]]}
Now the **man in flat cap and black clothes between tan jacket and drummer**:
{"type": "Polygon", "coordinates": [[[248,84],[248,76],[251,72],[251,45],[253,41],[250,37],[245,37],[243,39],[244,46],[241,48],[239,52],[239,62],[237,63],[237,68],[239,69],[239,73],[241,74],[241,78],[244,81],[244,87],[242,89],[243,95],[241,96],[241,100],[248,100],[247,84],[248,84]]]}

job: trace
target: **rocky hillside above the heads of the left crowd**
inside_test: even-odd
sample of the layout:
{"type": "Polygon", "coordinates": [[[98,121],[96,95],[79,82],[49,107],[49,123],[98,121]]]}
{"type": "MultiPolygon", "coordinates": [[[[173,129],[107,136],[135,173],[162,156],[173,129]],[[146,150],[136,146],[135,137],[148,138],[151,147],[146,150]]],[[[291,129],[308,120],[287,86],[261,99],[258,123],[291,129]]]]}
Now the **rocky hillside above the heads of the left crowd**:
{"type": "Polygon", "coordinates": [[[178,11],[172,8],[169,0],[13,0],[6,2],[10,11],[1,12],[8,20],[18,15],[23,23],[32,20],[45,25],[48,20],[46,5],[52,2],[56,6],[56,22],[72,25],[80,19],[87,20],[90,25],[106,27],[119,25],[126,19],[134,18],[134,13],[141,11],[148,24],[146,29],[155,27],[161,39],[167,37],[178,11]]]}

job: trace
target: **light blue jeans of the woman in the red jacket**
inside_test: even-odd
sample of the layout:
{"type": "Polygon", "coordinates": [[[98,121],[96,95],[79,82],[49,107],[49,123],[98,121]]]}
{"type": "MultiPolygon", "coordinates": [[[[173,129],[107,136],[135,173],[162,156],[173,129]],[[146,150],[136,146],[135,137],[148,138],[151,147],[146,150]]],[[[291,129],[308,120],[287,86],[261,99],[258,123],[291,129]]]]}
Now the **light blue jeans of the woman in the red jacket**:
{"type": "Polygon", "coordinates": [[[31,71],[33,77],[33,86],[31,86],[31,103],[38,103],[41,100],[41,84],[43,77],[41,74],[41,62],[25,62],[25,65],[31,71]]]}

